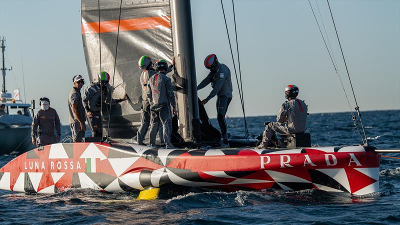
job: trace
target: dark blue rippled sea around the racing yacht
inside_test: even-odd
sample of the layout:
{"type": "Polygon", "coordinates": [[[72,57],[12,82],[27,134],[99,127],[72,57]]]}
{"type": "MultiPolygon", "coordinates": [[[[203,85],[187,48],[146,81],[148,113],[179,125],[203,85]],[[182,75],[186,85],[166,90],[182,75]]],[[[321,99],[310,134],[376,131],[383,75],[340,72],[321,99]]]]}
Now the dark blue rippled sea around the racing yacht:
{"type": "MultiPolygon", "coordinates": [[[[400,147],[400,110],[362,113],[370,145],[400,147]]],[[[255,136],[264,121],[275,116],[248,117],[255,136]]],[[[212,123],[218,127],[215,119],[212,123]]],[[[244,133],[241,118],[227,118],[228,132],[244,133]]],[[[69,135],[63,126],[63,135],[69,135]]],[[[320,146],[361,142],[351,115],[319,113],[308,116],[312,144],[320,146]]],[[[400,154],[384,154],[400,157],[400,154]]],[[[0,167],[14,158],[0,155],[0,167]]],[[[162,189],[161,189],[161,192],[162,189]]],[[[136,200],[137,193],[104,193],[72,189],[56,194],[25,194],[0,190],[0,223],[179,223],[179,224],[393,224],[400,223],[400,159],[382,157],[380,191],[365,196],[320,190],[238,191],[190,190],[164,192],[157,200],[136,200]]]]}

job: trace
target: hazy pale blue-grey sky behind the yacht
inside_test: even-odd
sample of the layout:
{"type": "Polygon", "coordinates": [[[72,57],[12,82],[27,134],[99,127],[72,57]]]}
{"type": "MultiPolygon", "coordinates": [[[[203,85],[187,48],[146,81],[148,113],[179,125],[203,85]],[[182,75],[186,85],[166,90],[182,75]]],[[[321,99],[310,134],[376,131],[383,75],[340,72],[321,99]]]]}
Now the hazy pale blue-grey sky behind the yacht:
{"type": "MultiPolygon", "coordinates": [[[[349,110],[308,1],[234,2],[247,115],[276,114],[287,84],[299,87],[299,98],[306,100],[310,113],[349,110]]],[[[360,110],[399,109],[400,1],[329,2],[360,110]]],[[[319,18],[315,0],[311,4],[319,18]]],[[[354,107],[326,1],[318,1],[318,6],[354,107]]],[[[192,0],[191,7],[197,82],[207,74],[204,57],[217,54],[229,66],[234,86],[227,114],[241,116],[220,2],[192,0]]],[[[224,9],[235,46],[230,0],[224,1],[224,9]]],[[[88,80],[80,31],[80,0],[0,0],[6,67],[13,68],[6,76],[8,91],[19,87],[23,98],[22,52],[27,101],[48,96],[63,124],[72,76],[82,74],[88,80]]],[[[210,90],[200,90],[200,98],[210,90]]],[[[215,97],[206,106],[215,117],[215,97]]]]}

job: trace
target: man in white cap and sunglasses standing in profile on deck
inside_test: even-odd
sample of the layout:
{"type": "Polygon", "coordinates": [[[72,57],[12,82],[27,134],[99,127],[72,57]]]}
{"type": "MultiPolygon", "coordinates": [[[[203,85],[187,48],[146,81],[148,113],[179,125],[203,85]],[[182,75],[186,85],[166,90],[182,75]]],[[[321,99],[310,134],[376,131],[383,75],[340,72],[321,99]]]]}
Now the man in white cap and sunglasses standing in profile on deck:
{"type": "Polygon", "coordinates": [[[69,126],[72,132],[73,142],[81,142],[86,131],[84,121],[85,111],[82,104],[82,97],[80,89],[84,84],[84,79],[81,75],[75,75],[72,78],[73,87],[68,95],[68,109],[69,109],[69,126]]]}

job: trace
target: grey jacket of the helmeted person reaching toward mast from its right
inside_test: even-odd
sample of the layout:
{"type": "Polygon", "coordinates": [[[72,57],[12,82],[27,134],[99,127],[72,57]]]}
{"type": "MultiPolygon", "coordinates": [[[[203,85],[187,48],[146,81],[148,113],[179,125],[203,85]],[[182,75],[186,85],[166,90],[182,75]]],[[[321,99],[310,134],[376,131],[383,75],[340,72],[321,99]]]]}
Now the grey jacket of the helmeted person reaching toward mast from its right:
{"type": "Polygon", "coordinates": [[[207,77],[205,77],[200,84],[197,85],[197,90],[204,88],[208,83],[211,83],[212,91],[206,97],[207,100],[213,96],[227,96],[232,97],[232,80],[230,78],[229,68],[222,63],[218,62],[218,65],[214,70],[211,70],[207,77]]]}

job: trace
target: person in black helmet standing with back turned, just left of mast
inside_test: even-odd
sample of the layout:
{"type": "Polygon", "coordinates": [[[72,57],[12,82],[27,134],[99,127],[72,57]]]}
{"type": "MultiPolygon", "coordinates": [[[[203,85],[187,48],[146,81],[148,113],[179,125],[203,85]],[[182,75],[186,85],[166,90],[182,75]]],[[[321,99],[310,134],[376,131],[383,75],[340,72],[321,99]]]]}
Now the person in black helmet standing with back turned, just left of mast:
{"type": "Polygon", "coordinates": [[[162,136],[166,147],[173,147],[170,143],[170,106],[172,113],[176,114],[176,102],[173,94],[171,79],[165,75],[168,64],[165,59],[155,63],[155,73],[147,80],[147,97],[150,103],[150,145],[155,146],[155,136],[158,123],[162,124],[162,136]]]}

